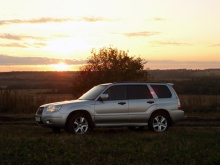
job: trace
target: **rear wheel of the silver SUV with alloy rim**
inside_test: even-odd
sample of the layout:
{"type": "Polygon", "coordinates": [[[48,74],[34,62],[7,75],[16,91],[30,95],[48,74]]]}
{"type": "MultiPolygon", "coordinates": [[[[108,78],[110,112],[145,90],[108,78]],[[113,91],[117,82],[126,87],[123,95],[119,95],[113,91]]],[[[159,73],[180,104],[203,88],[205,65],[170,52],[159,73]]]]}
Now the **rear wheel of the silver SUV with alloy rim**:
{"type": "Polygon", "coordinates": [[[155,113],[150,117],[148,127],[153,132],[164,132],[169,127],[170,118],[166,113],[155,113]]]}

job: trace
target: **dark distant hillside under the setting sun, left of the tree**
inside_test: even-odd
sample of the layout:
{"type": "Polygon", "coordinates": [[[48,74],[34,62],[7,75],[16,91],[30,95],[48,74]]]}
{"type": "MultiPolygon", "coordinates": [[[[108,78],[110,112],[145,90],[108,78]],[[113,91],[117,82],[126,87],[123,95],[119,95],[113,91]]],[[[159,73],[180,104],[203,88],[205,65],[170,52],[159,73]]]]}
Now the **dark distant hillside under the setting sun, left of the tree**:
{"type": "Polygon", "coordinates": [[[0,87],[8,89],[62,88],[68,91],[75,74],[76,72],[1,72],[0,87]]]}

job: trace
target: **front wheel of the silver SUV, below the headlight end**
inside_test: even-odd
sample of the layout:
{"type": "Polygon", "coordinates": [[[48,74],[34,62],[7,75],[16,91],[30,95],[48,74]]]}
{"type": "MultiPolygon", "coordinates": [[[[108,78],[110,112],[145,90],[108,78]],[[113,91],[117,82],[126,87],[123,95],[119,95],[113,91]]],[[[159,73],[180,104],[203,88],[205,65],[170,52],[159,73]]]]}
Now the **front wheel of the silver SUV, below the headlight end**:
{"type": "Polygon", "coordinates": [[[86,134],[92,130],[91,118],[84,113],[74,114],[68,123],[67,131],[73,134],[86,134]]]}

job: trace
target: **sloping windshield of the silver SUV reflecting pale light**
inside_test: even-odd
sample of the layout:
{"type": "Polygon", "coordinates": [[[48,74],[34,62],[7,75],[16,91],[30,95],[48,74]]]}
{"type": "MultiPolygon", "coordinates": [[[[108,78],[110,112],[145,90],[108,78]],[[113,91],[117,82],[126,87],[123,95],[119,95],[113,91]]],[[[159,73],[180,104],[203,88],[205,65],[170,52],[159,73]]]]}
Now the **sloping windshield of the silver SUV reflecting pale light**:
{"type": "Polygon", "coordinates": [[[90,89],[88,92],[83,94],[79,100],[94,100],[101,94],[101,92],[107,87],[108,85],[98,85],[90,89]]]}

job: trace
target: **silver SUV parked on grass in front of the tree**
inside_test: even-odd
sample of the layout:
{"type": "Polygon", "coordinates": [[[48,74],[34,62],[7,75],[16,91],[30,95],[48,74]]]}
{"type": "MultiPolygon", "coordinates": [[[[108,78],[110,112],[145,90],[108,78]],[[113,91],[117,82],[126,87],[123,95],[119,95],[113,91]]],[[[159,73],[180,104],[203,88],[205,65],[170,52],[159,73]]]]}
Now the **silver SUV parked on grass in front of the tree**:
{"type": "Polygon", "coordinates": [[[94,127],[127,126],[155,132],[167,130],[184,118],[179,98],[171,83],[100,84],[77,100],[41,105],[37,124],[54,132],[84,134],[94,127]]]}

